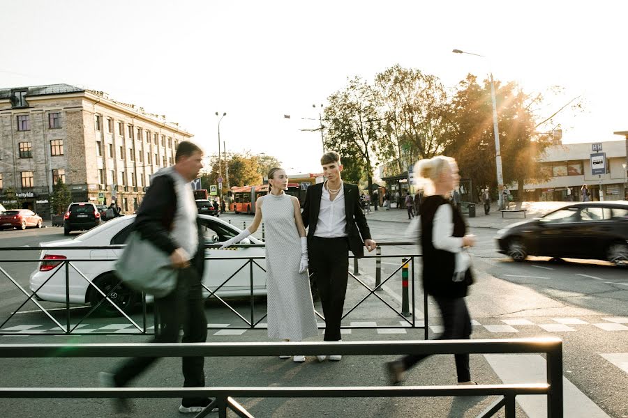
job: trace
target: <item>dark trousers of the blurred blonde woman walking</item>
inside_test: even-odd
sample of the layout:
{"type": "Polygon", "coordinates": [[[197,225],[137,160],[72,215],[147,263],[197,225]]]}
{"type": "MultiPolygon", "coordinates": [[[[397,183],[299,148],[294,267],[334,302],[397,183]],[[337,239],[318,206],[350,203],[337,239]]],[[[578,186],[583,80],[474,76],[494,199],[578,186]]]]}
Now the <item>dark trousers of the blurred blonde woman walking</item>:
{"type": "MultiPolygon", "coordinates": [[[[471,336],[471,318],[465,303],[464,297],[455,299],[447,299],[444,297],[434,297],[442,315],[444,331],[437,339],[470,339],[471,336]]],[[[401,359],[403,368],[408,370],[414,364],[422,359],[429,357],[426,355],[407,355],[401,359]]],[[[456,374],[458,374],[458,382],[468,382],[471,380],[471,372],[469,369],[469,354],[456,354],[456,374]]]]}

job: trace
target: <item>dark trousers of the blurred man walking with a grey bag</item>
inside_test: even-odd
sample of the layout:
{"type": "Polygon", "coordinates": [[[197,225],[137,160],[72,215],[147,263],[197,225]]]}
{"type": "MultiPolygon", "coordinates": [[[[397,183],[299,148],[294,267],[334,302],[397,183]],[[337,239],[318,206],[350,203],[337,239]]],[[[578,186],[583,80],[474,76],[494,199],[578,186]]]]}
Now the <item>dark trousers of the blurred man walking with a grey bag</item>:
{"type": "MultiPolygon", "coordinates": [[[[194,268],[182,269],[177,279],[177,288],[165,297],[155,300],[158,327],[154,343],[176,343],[179,330],[184,329],[184,343],[204,343],[207,339],[201,280],[194,268]]],[[[117,386],[126,386],[137,378],[159,357],[133,357],[126,360],[114,373],[117,386]]],[[[184,387],[205,385],[204,357],[183,357],[184,387]]],[[[207,398],[183,398],[184,406],[205,406],[207,398]]]]}

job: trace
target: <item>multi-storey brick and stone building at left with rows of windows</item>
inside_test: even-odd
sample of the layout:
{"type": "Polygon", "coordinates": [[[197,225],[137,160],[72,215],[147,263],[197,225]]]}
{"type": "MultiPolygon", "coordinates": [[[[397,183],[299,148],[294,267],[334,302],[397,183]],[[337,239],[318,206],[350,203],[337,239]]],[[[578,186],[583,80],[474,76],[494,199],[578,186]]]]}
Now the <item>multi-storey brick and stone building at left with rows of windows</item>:
{"type": "Polygon", "coordinates": [[[72,201],[139,207],[150,177],[174,164],[193,135],[165,116],[68,84],[0,89],[0,203],[15,187],[23,208],[50,219],[61,179],[72,201]]]}

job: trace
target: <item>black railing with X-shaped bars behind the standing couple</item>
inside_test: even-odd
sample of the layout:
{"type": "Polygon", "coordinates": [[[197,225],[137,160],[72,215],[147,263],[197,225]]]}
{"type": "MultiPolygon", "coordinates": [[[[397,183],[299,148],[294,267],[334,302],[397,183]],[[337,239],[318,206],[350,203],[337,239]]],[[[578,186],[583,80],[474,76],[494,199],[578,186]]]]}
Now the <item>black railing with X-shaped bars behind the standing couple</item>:
{"type": "MultiPolygon", "coordinates": [[[[411,312],[414,312],[414,307],[415,307],[415,298],[414,298],[414,283],[415,283],[415,274],[414,274],[414,262],[415,259],[420,257],[420,254],[410,254],[410,255],[405,255],[406,258],[403,258],[403,260],[401,261],[401,263],[399,265],[396,265],[394,267],[394,271],[391,272],[391,274],[388,275],[388,277],[386,277],[384,280],[382,280],[381,277],[381,259],[382,258],[387,258],[387,259],[394,259],[394,260],[399,260],[401,258],[401,255],[399,254],[389,254],[389,255],[382,255],[382,251],[381,251],[381,247],[384,246],[403,246],[403,245],[414,245],[414,243],[412,242],[386,242],[386,243],[381,243],[380,245],[378,245],[377,247],[377,251],[376,251],[376,255],[375,256],[364,256],[363,259],[368,259],[368,258],[375,258],[375,264],[376,264],[376,271],[375,271],[375,287],[372,288],[371,286],[369,286],[365,279],[360,279],[358,276],[360,275],[359,273],[359,266],[357,265],[357,258],[354,258],[353,256],[350,256],[350,258],[354,258],[354,272],[348,272],[349,276],[352,277],[354,280],[356,280],[364,289],[366,289],[367,294],[361,298],[361,300],[359,300],[359,302],[357,302],[356,304],[354,304],[352,307],[348,308],[348,311],[343,315],[343,320],[345,318],[347,318],[348,316],[350,316],[350,314],[352,314],[352,312],[357,309],[359,306],[361,306],[362,304],[364,304],[364,302],[369,298],[369,297],[375,297],[378,300],[380,300],[383,304],[385,304],[391,311],[394,312],[394,314],[396,316],[398,316],[398,318],[403,322],[403,325],[356,325],[356,326],[349,326],[349,325],[343,325],[342,328],[343,329],[359,329],[359,328],[368,328],[368,329],[373,329],[373,328],[403,328],[403,327],[412,327],[412,328],[423,328],[424,329],[424,336],[425,339],[428,339],[428,301],[427,301],[427,296],[423,295],[423,299],[424,299],[424,318],[422,322],[417,321],[417,318],[414,318],[414,315],[411,315],[411,312]],[[404,269],[405,266],[405,270],[404,269]],[[402,284],[403,287],[402,288],[402,295],[403,295],[403,300],[401,301],[401,305],[402,305],[402,309],[401,311],[399,311],[398,309],[396,309],[395,307],[392,306],[392,304],[390,302],[388,302],[387,300],[384,299],[384,297],[382,297],[382,295],[378,294],[381,292],[382,290],[382,286],[384,286],[385,284],[387,284],[389,281],[391,281],[391,279],[393,279],[394,277],[396,277],[396,274],[400,273],[402,275],[402,284]],[[410,310],[410,307],[412,307],[412,309],[410,310]],[[408,319],[409,317],[412,317],[411,319],[408,319]]],[[[206,248],[217,248],[218,245],[206,245],[206,248]]],[[[257,244],[246,244],[246,245],[234,245],[233,247],[264,247],[264,245],[257,245],[257,244]]],[[[97,251],[97,250],[103,250],[103,249],[122,249],[124,248],[124,245],[109,245],[109,246],[103,246],[103,247],[80,247],[80,246],[76,246],[76,247],[45,247],[45,249],[47,250],[54,250],[54,249],[60,249],[60,250],[91,250],[91,251],[97,251]]],[[[2,253],[2,251],[38,251],[39,248],[29,248],[29,247],[5,247],[5,248],[1,248],[0,249],[0,254],[2,253]]],[[[259,261],[263,260],[264,257],[260,256],[260,257],[212,257],[211,260],[212,261],[218,261],[218,260],[242,260],[245,261],[239,268],[237,268],[237,270],[235,270],[229,277],[225,278],[223,281],[221,281],[221,283],[216,287],[216,288],[209,288],[207,286],[207,284],[202,284],[202,286],[204,287],[205,291],[207,291],[207,293],[209,294],[206,299],[209,300],[210,298],[215,298],[216,300],[218,300],[222,305],[224,305],[227,309],[229,309],[232,314],[234,314],[235,316],[237,316],[237,318],[239,318],[239,320],[242,321],[243,325],[241,326],[230,326],[230,329],[235,329],[235,330],[248,330],[248,329],[265,329],[266,326],[262,325],[262,320],[264,320],[264,318],[266,318],[266,315],[261,316],[261,318],[258,316],[255,316],[255,295],[254,295],[254,287],[253,287],[253,270],[254,269],[261,269],[262,271],[265,272],[264,267],[262,267],[262,265],[260,265],[259,261]],[[250,308],[251,308],[251,314],[249,318],[245,318],[242,314],[240,314],[237,309],[234,309],[234,307],[232,307],[232,305],[230,303],[228,303],[223,297],[220,297],[220,295],[218,295],[218,292],[220,291],[221,288],[223,288],[230,280],[233,279],[233,277],[235,277],[239,272],[241,272],[242,270],[248,268],[248,272],[249,272],[249,284],[250,284],[250,308]]],[[[100,295],[100,297],[102,297],[102,299],[100,300],[100,302],[98,302],[98,304],[96,304],[95,306],[91,307],[91,309],[89,309],[89,311],[87,312],[87,314],[85,314],[84,316],[82,316],[82,318],[80,318],[80,320],[78,320],[76,323],[71,323],[70,320],[70,295],[69,295],[69,289],[70,289],[70,269],[73,270],[73,272],[75,272],[76,274],[78,274],[81,279],[88,281],[91,284],[91,280],[89,277],[87,277],[87,275],[82,272],[79,268],[77,268],[76,263],[79,262],[89,262],[89,263],[98,263],[98,262],[109,262],[112,263],[112,259],[110,258],[66,258],[63,260],[55,260],[55,262],[59,263],[58,267],[55,267],[55,269],[57,269],[54,274],[64,274],[65,276],[65,287],[66,287],[66,303],[64,304],[64,311],[66,314],[66,318],[65,318],[65,323],[62,324],[63,321],[57,320],[57,318],[54,318],[54,316],[50,313],[49,309],[46,309],[41,303],[40,301],[37,300],[37,292],[43,287],[45,286],[45,284],[47,283],[47,281],[50,281],[50,279],[52,279],[54,274],[51,274],[51,276],[43,282],[43,284],[40,284],[40,286],[33,291],[32,293],[25,289],[23,286],[20,285],[20,283],[17,281],[17,279],[11,277],[11,275],[1,267],[2,263],[39,263],[40,259],[36,258],[36,259],[20,259],[20,260],[16,260],[15,258],[13,259],[0,259],[0,273],[4,274],[16,287],[17,289],[26,297],[26,299],[24,300],[24,302],[22,302],[22,304],[20,304],[19,307],[17,307],[17,309],[13,310],[13,312],[10,313],[10,315],[8,316],[8,318],[6,318],[5,320],[2,320],[2,318],[0,318],[0,335],[3,334],[15,334],[15,332],[6,332],[3,330],[3,327],[5,327],[5,325],[8,323],[8,321],[13,318],[15,316],[15,314],[17,314],[18,311],[20,311],[20,309],[22,309],[22,307],[24,307],[25,304],[27,304],[27,302],[33,302],[34,304],[36,304],[36,307],[38,307],[38,309],[40,309],[40,311],[43,312],[43,314],[45,314],[45,316],[47,316],[47,318],[49,318],[52,323],[54,323],[54,325],[59,328],[59,332],[55,333],[55,332],[46,332],[46,333],[42,333],[42,332],[29,332],[28,330],[24,330],[23,332],[21,331],[20,334],[23,335],[56,335],[56,334],[84,334],[81,330],[81,327],[83,326],[84,320],[86,318],[88,318],[89,316],[91,316],[92,314],[94,314],[103,304],[106,304],[107,307],[112,307],[114,309],[114,311],[119,314],[120,316],[123,316],[125,318],[126,321],[128,321],[128,323],[130,323],[131,325],[133,325],[133,327],[130,328],[130,330],[112,330],[111,332],[99,332],[99,334],[153,334],[154,333],[154,328],[156,327],[156,323],[155,320],[153,319],[152,321],[149,320],[148,314],[147,314],[147,295],[140,295],[140,302],[142,304],[142,319],[141,321],[135,321],[133,320],[133,318],[131,318],[123,309],[121,309],[118,304],[116,304],[113,300],[112,300],[112,295],[116,294],[116,293],[121,293],[122,292],[122,287],[121,287],[121,283],[117,283],[115,286],[111,286],[110,288],[105,289],[105,291],[103,291],[102,289],[100,289],[98,286],[91,286],[95,292],[98,292],[98,294],[100,295]],[[138,323],[140,322],[140,323],[138,323]],[[151,327],[151,325],[153,325],[151,327]]],[[[246,270],[245,270],[246,271],[246,270]]],[[[312,274],[311,274],[312,276],[312,274]]],[[[321,318],[322,320],[324,320],[324,316],[322,316],[322,314],[320,314],[319,312],[316,312],[316,315],[321,318]]],[[[319,327],[324,327],[324,325],[319,325],[319,327]]],[[[208,329],[210,330],[221,330],[224,327],[220,326],[220,327],[212,327],[209,326],[208,329]]]]}

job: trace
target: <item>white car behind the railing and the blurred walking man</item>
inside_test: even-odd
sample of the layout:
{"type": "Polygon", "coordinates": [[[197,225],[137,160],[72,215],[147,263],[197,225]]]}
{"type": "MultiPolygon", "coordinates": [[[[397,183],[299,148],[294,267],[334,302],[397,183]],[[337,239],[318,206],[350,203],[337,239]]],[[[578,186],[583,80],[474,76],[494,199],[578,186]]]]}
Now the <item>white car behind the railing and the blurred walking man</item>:
{"type": "MultiPolygon", "coordinates": [[[[198,215],[205,238],[205,244],[216,244],[226,241],[241,232],[232,224],[216,217],[198,215]]],[[[120,248],[94,249],[46,249],[46,247],[107,247],[124,245],[128,234],[132,230],[135,215],[117,217],[105,224],[96,226],[86,233],[73,239],[43,242],[40,251],[40,263],[37,270],[31,273],[30,288],[36,293],[38,300],[66,303],[66,267],[62,260],[89,259],[104,261],[75,261],[69,267],[70,303],[91,304],[96,306],[103,299],[94,286],[98,286],[103,293],[108,294],[119,284],[114,274],[114,263],[120,256],[120,248]],[[75,267],[73,267],[75,266],[75,267]]],[[[245,238],[241,244],[264,244],[254,237],[245,238]]],[[[216,291],[220,297],[241,297],[251,295],[251,266],[246,265],[248,259],[215,260],[213,258],[235,257],[264,257],[264,248],[237,248],[205,249],[205,270],[203,283],[211,291],[216,291]],[[243,267],[244,266],[244,267],[243,267]],[[231,277],[233,275],[233,277],[231,277]],[[231,278],[230,278],[231,277],[231,278]],[[230,279],[229,279],[230,278],[230,279]],[[227,280],[228,279],[228,280],[227,280]],[[226,281],[226,282],[225,282],[226,281]],[[223,284],[223,282],[225,282],[223,284]]],[[[147,261],[150,262],[150,261],[147,261]]],[[[265,262],[262,259],[253,263],[253,295],[266,295],[265,262]]],[[[204,289],[207,297],[209,291],[204,289]]],[[[128,313],[141,295],[120,284],[110,294],[110,299],[117,306],[128,313]]],[[[106,300],[98,307],[105,315],[119,314],[117,309],[106,300]]]]}

